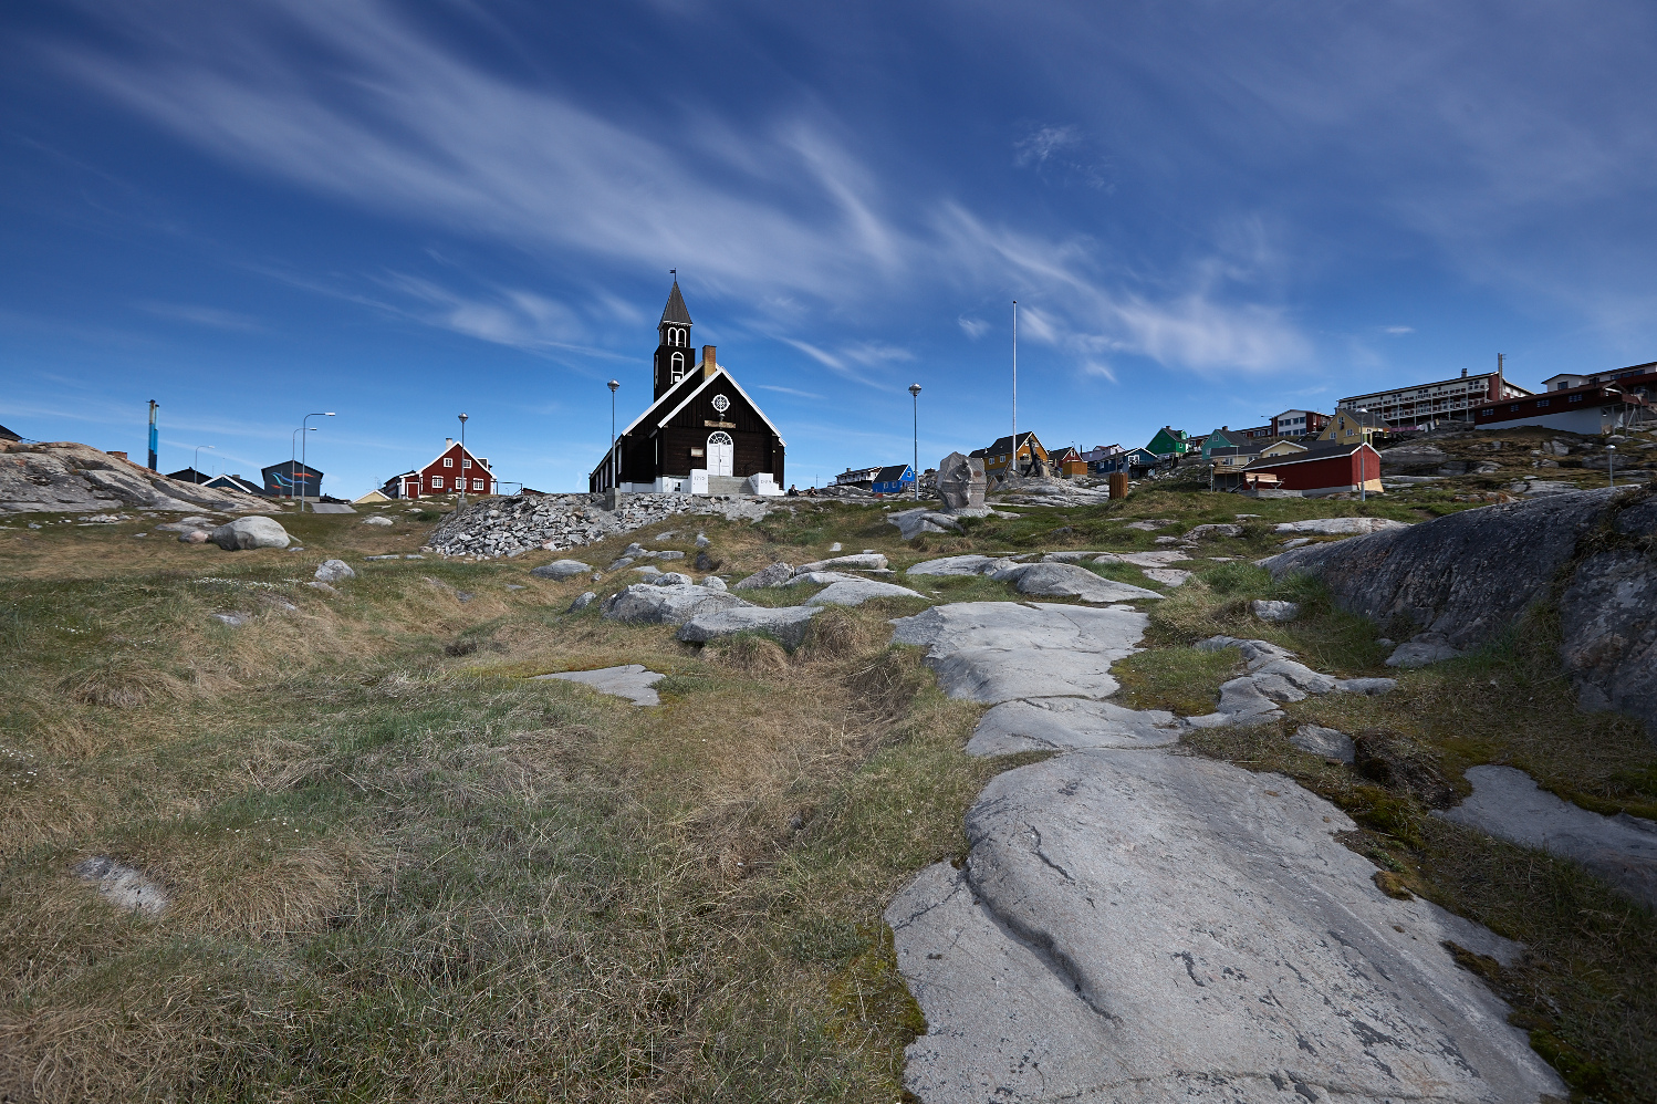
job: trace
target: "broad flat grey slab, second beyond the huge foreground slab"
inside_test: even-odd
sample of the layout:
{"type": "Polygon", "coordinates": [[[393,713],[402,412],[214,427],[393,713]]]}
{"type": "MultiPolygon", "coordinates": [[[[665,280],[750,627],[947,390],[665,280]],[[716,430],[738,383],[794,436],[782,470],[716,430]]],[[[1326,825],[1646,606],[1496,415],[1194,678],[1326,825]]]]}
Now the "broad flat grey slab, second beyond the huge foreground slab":
{"type": "Polygon", "coordinates": [[[1110,665],[1138,651],[1150,618],[1125,605],[954,602],[891,622],[893,642],[921,645],[951,698],[1109,698],[1110,665]]]}

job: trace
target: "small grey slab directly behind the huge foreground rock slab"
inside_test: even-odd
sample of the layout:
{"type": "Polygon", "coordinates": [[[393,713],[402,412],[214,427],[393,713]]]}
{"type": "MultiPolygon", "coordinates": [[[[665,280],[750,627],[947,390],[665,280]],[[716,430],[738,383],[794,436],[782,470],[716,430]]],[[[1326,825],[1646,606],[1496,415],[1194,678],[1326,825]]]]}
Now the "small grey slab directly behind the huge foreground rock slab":
{"type": "Polygon", "coordinates": [[[1180,721],[1163,709],[1128,709],[1090,698],[1031,698],[989,709],[973,729],[966,753],[1162,748],[1178,743],[1180,731],[1180,721]]]}

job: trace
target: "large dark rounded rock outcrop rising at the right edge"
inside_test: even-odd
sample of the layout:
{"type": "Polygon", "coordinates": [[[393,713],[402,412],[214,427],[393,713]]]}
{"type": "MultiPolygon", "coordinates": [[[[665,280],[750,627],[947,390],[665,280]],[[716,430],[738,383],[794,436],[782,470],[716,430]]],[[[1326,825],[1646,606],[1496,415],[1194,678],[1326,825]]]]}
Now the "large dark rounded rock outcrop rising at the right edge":
{"type": "MultiPolygon", "coordinates": [[[[1336,603],[1403,622],[1448,650],[1478,646],[1533,605],[1559,603],[1561,656],[1584,708],[1657,738],[1657,497],[1634,487],[1551,494],[1261,560],[1306,572],[1336,603]]],[[[1448,655],[1443,651],[1442,655],[1448,655]]]]}

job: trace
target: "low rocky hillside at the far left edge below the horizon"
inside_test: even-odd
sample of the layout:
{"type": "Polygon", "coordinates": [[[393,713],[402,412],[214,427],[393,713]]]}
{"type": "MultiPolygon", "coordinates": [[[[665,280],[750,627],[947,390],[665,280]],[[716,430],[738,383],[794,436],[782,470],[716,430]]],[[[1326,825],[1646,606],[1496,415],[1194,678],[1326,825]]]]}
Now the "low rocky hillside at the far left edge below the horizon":
{"type": "Polygon", "coordinates": [[[0,443],[0,514],[212,509],[270,511],[267,499],[179,482],[88,444],[0,443]]]}

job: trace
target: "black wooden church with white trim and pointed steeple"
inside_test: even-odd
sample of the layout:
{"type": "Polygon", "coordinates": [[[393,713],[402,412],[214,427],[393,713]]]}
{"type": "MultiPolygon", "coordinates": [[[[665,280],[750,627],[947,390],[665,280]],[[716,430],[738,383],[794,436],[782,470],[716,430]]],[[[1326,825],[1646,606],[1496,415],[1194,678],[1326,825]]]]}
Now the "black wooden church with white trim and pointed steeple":
{"type": "Polygon", "coordinates": [[[784,486],[782,434],[717,361],[713,345],[696,360],[691,312],[678,280],[656,330],[656,398],[616,436],[588,487],[734,494],[746,477],[761,476],[761,492],[777,494],[769,487],[784,486]]]}

